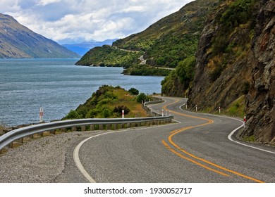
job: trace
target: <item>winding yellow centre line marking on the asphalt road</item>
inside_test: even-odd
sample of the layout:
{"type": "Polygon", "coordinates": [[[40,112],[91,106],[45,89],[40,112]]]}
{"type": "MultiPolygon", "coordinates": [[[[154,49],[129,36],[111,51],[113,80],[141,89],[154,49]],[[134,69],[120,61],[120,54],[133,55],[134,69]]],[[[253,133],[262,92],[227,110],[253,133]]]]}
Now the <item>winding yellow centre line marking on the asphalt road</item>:
{"type": "MultiPolygon", "coordinates": [[[[178,103],[178,102],[179,102],[179,100],[176,100],[176,101],[173,102],[173,103],[167,104],[166,106],[164,106],[164,109],[166,109],[167,106],[172,105],[172,104],[174,104],[174,103],[178,103]]],[[[214,167],[217,167],[217,168],[219,168],[219,169],[221,169],[221,170],[224,170],[224,171],[226,171],[226,172],[231,172],[232,174],[236,174],[236,175],[238,175],[238,176],[240,176],[240,177],[244,177],[244,178],[246,178],[246,179],[250,179],[250,180],[252,180],[252,181],[254,181],[254,182],[263,183],[262,181],[260,181],[260,180],[258,180],[258,179],[255,179],[255,178],[252,178],[252,177],[248,177],[248,176],[246,176],[246,175],[244,175],[244,174],[240,174],[239,172],[235,172],[235,171],[233,171],[233,170],[229,170],[229,169],[227,169],[226,167],[221,167],[220,165],[216,165],[215,163],[212,163],[212,162],[210,162],[210,161],[208,161],[208,160],[204,160],[203,158],[199,158],[199,157],[197,157],[197,156],[195,156],[195,155],[193,155],[193,154],[191,154],[191,153],[188,153],[188,151],[183,150],[180,146],[178,146],[175,142],[173,142],[173,140],[172,140],[172,137],[173,137],[173,136],[175,136],[176,134],[178,134],[178,133],[180,133],[180,132],[183,132],[183,131],[185,131],[185,130],[188,130],[188,129],[193,129],[193,128],[195,128],[195,127],[202,127],[202,126],[205,126],[205,125],[210,125],[210,124],[212,124],[212,123],[214,122],[214,120],[207,119],[207,118],[204,118],[204,117],[197,117],[197,116],[193,116],[193,115],[186,115],[186,114],[183,114],[183,113],[178,113],[178,112],[173,111],[173,110],[170,110],[170,111],[171,111],[172,113],[175,113],[175,114],[178,114],[178,115],[182,115],[182,116],[185,116],[185,117],[192,117],[192,118],[195,118],[195,119],[207,120],[206,123],[203,123],[203,124],[200,124],[200,125],[195,125],[195,126],[190,126],[190,127],[184,127],[184,128],[176,129],[176,130],[170,132],[171,135],[169,136],[168,140],[169,140],[169,142],[170,142],[175,148],[177,148],[179,151],[181,151],[181,152],[183,152],[183,153],[189,155],[189,156],[192,157],[192,158],[195,158],[195,159],[197,159],[197,160],[201,160],[201,161],[204,162],[204,163],[207,163],[207,164],[209,164],[209,165],[212,165],[212,166],[214,166],[214,167]]],[[[168,146],[168,144],[166,144],[165,141],[162,141],[162,144],[164,144],[164,146],[166,146],[166,148],[168,148],[169,151],[172,151],[172,150],[173,150],[170,146],[168,146]],[[164,144],[164,143],[165,143],[165,144],[164,144]]],[[[176,151],[174,151],[174,150],[173,150],[172,152],[175,153],[176,155],[180,156],[181,158],[187,159],[185,156],[181,155],[181,153],[178,153],[178,152],[176,152],[176,151]]],[[[189,159],[189,158],[188,158],[188,160],[191,161],[191,159],[189,159]]],[[[193,162],[193,160],[192,160],[191,162],[193,162]]],[[[193,163],[194,163],[194,162],[193,162],[193,163]]],[[[197,165],[200,165],[201,167],[204,167],[204,168],[206,168],[206,169],[208,169],[208,170],[211,169],[212,171],[214,171],[214,169],[212,169],[212,168],[210,168],[210,167],[207,168],[207,167],[205,167],[205,165],[202,166],[201,163],[196,163],[196,164],[197,164],[197,165]],[[209,169],[209,168],[210,168],[210,169],[209,169]]],[[[223,173],[223,172],[220,172],[220,171],[218,171],[218,170],[215,170],[214,172],[219,173],[219,174],[223,173]]],[[[223,175],[224,175],[224,173],[223,173],[223,175]]],[[[228,174],[226,174],[226,175],[228,176],[228,174]]]]}

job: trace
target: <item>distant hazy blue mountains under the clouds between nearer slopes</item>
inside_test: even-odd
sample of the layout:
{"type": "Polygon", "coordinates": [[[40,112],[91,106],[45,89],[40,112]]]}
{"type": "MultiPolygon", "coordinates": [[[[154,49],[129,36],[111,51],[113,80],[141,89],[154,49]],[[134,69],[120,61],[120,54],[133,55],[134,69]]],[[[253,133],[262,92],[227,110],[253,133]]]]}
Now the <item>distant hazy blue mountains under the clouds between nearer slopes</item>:
{"type": "Polygon", "coordinates": [[[85,53],[87,53],[87,51],[90,51],[90,49],[96,46],[111,45],[115,41],[116,39],[106,39],[102,42],[91,41],[91,42],[82,42],[79,44],[62,44],[62,46],[65,46],[70,51],[73,51],[75,53],[80,54],[80,56],[83,56],[85,53]]]}

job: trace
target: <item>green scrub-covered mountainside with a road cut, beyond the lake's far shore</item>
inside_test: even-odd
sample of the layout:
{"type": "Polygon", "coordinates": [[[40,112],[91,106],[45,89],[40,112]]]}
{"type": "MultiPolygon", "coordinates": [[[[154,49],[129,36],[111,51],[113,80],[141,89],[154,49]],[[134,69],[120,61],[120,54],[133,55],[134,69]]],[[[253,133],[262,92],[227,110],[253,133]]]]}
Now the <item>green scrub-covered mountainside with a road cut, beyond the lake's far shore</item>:
{"type": "Polygon", "coordinates": [[[167,75],[169,70],[161,68],[176,68],[185,58],[195,56],[204,20],[216,1],[197,0],[186,4],[146,30],[118,39],[112,47],[92,49],[77,65],[121,64],[127,75],[159,75],[160,72],[167,75]]]}

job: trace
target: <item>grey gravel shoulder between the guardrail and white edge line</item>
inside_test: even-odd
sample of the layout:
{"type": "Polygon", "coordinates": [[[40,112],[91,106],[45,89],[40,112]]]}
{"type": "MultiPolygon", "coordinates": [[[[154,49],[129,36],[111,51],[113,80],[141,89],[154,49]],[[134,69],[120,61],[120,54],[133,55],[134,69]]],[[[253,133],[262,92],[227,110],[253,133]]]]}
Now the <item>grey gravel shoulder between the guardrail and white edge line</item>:
{"type": "MultiPolygon", "coordinates": [[[[73,149],[87,137],[102,133],[70,132],[32,139],[0,155],[1,183],[86,182],[73,162],[73,149]],[[70,174],[66,168],[70,168],[70,174]]],[[[105,131],[106,132],[106,131],[105,131]]]]}

